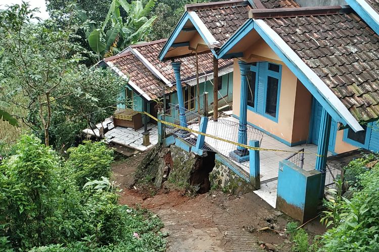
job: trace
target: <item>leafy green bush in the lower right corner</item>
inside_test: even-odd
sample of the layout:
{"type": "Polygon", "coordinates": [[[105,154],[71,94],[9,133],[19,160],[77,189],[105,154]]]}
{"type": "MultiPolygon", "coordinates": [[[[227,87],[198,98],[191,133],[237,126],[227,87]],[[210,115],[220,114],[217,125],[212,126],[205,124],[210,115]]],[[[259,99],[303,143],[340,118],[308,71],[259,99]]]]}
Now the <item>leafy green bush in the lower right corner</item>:
{"type": "Polygon", "coordinates": [[[323,235],[323,251],[379,251],[378,165],[358,175],[353,191],[351,200],[332,199],[340,214],[329,213],[335,226],[323,235]]]}

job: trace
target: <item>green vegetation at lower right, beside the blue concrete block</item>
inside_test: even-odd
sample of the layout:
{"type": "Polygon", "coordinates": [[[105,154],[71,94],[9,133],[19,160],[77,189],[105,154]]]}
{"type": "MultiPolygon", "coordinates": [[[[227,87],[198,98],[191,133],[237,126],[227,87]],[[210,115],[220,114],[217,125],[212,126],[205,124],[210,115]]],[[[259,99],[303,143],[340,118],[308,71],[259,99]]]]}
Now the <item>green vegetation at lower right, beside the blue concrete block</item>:
{"type": "Polygon", "coordinates": [[[365,166],[376,159],[368,155],[347,167],[349,180],[355,184],[347,195],[341,195],[346,182],[331,191],[334,198],[325,201],[324,220],[333,226],[322,236],[322,251],[379,251],[379,163],[365,166]]]}

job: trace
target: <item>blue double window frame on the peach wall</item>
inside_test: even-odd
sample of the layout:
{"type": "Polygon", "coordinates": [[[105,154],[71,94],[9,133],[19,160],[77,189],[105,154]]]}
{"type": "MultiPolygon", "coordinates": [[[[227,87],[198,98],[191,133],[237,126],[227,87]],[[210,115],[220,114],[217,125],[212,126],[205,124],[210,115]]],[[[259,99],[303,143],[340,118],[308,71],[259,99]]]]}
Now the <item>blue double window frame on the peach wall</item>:
{"type": "Polygon", "coordinates": [[[277,122],[281,65],[256,62],[250,67],[248,81],[248,109],[277,122]]]}

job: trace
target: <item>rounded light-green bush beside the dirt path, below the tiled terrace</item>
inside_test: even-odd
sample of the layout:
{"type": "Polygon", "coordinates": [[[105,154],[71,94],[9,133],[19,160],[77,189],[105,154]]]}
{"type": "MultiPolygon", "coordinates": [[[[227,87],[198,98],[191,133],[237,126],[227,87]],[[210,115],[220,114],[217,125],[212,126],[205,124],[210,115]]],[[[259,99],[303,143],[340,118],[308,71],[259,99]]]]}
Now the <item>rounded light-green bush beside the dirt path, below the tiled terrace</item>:
{"type": "Polygon", "coordinates": [[[68,149],[66,170],[79,186],[88,180],[110,177],[113,151],[102,142],[85,141],[83,145],[68,149]]]}

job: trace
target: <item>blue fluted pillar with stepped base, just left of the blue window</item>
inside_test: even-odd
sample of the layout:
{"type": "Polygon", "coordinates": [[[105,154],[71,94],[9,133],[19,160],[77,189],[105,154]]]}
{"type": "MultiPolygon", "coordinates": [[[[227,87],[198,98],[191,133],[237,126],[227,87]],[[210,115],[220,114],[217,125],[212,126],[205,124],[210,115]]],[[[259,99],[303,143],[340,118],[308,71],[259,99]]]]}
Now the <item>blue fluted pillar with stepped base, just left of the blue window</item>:
{"type": "MultiPolygon", "coordinates": [[[[238,61],[241,73],[241,100],[240,100],[240,125],[238,128],[238,143],[247,145],[247,112],[248,112],[248,79],[247,74],[250,71],[250,65],[244,61],[238,61]]],[[[238,146],[237,149],[230,153],[230,157],[238,162],[249,160],[249,152],[246,148],[238,146]]]]}

